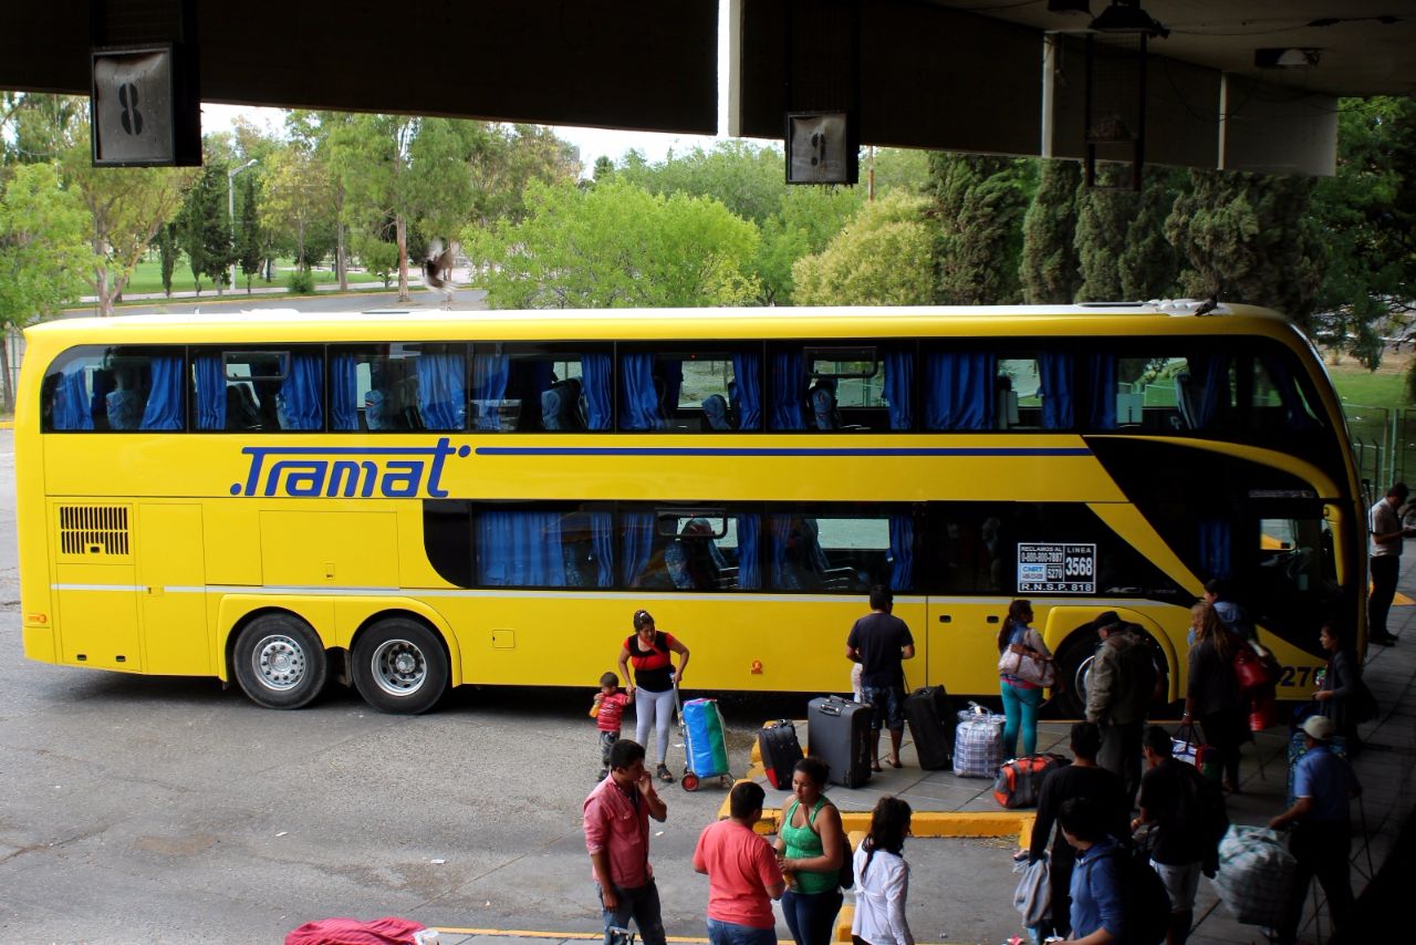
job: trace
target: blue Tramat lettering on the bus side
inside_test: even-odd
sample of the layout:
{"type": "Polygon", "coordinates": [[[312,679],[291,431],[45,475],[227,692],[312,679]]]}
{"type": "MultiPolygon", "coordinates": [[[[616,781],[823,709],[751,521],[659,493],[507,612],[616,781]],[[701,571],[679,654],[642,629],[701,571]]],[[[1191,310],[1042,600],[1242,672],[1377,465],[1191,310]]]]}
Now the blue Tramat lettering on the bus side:
{"type": "Polygon", "coordinates": [[[472,453],[446,436],[435,446],[245,446],[251,458],[245,483],[232,496],[446,499],[443,466],[472,453]]]}

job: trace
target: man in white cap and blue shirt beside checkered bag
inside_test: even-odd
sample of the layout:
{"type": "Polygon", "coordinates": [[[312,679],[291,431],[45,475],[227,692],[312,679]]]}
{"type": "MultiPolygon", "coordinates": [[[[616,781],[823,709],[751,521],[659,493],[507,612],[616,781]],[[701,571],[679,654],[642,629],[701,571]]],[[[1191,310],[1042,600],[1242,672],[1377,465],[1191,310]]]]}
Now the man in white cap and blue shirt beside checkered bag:
{"type": "Polygon", "coordinates": [[[1293,806],[1269,822],[1270,827],[1293,827],[1289,850],[1298,861],[1289,895],[1289,911],[1277,929],[1279,945],[1297,941],[1308,881],[1317,876],[1327,894],[1332,927],[1341,928],[1352,910],[1352,819],[1348,799],[1362,793],[1352,766],[1332,754],[1337,730],[1331,718],[1313,715],[1303,723],[1307,752],[1293,768],[1293,806]]]}

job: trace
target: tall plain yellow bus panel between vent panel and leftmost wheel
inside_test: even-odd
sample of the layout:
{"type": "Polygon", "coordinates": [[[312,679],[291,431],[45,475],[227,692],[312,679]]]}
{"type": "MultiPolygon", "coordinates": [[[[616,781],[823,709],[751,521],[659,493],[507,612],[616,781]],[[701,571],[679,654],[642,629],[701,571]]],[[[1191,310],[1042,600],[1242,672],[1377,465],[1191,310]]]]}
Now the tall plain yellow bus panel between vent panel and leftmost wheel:
{"type": "Polygon", "coordinates": [[[210,674],[201,506],[139,506],[137,561],[143,670],[210,674]]]}

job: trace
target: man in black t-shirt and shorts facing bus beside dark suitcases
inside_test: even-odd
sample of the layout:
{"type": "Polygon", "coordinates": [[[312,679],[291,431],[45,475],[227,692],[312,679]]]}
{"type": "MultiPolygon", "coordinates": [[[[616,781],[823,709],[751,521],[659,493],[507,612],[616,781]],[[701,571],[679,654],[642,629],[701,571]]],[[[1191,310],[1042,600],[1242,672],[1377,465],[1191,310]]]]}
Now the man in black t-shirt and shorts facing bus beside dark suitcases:
{"type": "Polygon", "coordinates": [[[915,657],[915,638],[905,621],[891,613],[895,595],[884,585],[871,588],[871,612],[851,628],[845,657],[861,664],[861,693],[875,707],[871,728],[871,771],[881,771],[882,727],[889,728],[892,768],[899,768],[899,742],[905,735],[905,667],[915,657]]]}

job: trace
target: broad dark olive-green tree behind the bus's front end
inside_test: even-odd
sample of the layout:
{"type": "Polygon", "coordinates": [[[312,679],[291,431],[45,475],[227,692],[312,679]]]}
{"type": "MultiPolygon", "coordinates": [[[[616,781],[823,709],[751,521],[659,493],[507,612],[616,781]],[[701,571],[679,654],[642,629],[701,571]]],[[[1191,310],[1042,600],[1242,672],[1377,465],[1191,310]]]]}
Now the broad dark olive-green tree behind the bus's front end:
{"type": "Polygon", "coordinates": [[[1264,305],[1307,327],[1325,265],[1313,179],[1202,170],[1189,179],[1165,221],[1181,289],[1264,305]]]}

